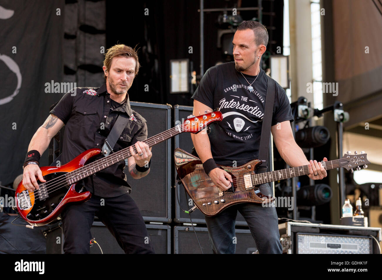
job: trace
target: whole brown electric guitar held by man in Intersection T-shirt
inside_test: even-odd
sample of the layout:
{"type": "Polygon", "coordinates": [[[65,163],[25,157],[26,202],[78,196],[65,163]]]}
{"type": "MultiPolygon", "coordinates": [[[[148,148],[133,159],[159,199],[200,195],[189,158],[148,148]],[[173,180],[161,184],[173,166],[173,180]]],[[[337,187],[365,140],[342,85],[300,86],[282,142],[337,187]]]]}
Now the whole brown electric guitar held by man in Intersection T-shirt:
{"type": "MultiPolygon", "coordinates": [[[[354,167],[357,170],[361,169],[360,165],[367,168],[367,164],[370,162],[367,161],[365,152],[362,151],[359,155],[354,152],[354,154],[350,155],[348,152],[339,160],[322,161],[321,163],[325,170],[344,167],[351,170],[352,173],[354,167]]],[[[204,172],[199,158],[176,148],[174,160],[176,171],[186,192],[194,201],[195,206],[204,215],[210,217],[237,203],[272,203],[274,197],[263,195],[259,185],[309,174],[308,165],[256,174],[256,167],[261,164],[261,160],[252,160],[238,167],[220,165],[220,168],[232,176],[233,181],[230,189],[222,191],[204,172]]]]}

